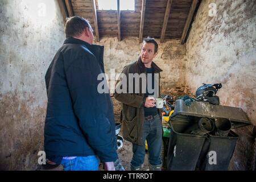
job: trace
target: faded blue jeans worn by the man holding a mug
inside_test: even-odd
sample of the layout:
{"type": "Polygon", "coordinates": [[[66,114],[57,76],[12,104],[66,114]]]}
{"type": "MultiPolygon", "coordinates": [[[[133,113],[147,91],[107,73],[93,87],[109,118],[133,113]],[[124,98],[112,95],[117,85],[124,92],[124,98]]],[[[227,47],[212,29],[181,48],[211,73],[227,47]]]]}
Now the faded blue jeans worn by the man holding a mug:
{"type": "Polygon", "coordinates": [[[159,115],[154,119],[144,121],[143,123],[143,146],[133,143],[133,159],[131,165],[134,167],[141,166],[144,163],[146,154],[145,141],[148,145],[148,159],[151,165],[162,164],[161,148],[162,148],[162,120],[159,115]]]}

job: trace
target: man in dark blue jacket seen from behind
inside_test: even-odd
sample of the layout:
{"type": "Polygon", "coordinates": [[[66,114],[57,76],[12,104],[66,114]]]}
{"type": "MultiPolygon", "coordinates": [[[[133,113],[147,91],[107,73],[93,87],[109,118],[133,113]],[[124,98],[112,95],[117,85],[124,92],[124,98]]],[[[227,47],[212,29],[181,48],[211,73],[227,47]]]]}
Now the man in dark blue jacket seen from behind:
{"type": "Polygon", "coordinates": [[[65,34],[46,73],[47,159],[63,164],[64,170],[95,171],[100,158],[106,170],[114,170],[118,155],[113,105],[109,93],[97,91],[104,47],[92,44],[92,27],[79,16],[67,20],[65,34]]]}

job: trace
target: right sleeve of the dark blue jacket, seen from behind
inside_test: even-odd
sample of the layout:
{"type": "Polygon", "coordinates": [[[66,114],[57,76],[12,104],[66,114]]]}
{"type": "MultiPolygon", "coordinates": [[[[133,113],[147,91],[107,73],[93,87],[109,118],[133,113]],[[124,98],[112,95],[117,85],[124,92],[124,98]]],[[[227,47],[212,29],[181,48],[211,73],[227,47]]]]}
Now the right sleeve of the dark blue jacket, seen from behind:
{"type": "Polygon", "coordinates": [[[114,162],[118,156],[113,109],[109,95],[97,92],[99,73],[92,56],[81,56],[65,68],[73,110],[86,142],[102,162],[114,162]]]}

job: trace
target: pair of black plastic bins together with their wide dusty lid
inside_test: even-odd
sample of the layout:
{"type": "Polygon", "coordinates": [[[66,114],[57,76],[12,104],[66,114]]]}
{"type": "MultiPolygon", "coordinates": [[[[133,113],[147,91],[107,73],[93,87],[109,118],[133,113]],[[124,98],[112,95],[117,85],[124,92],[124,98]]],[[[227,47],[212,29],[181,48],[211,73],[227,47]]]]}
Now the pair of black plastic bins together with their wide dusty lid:
{"type": "Polygon", "coordinates": [[[247,115],[241,108],[197,101],[187,106],[183,100],[176,100],[175,111],[170,118],[168,170],[188,171],[195,170],[196,167],[205,171],[228,169],[238,135],[232,130],[227,133],[228,137],[185,134],[186,129],[193,126],[200,118],[213,119],[214,122],[218,119],[228,120],[231,124],[230,129],[250,125],[247,115]],[[211,162],[215,154],[216,161],[211,162]]]}

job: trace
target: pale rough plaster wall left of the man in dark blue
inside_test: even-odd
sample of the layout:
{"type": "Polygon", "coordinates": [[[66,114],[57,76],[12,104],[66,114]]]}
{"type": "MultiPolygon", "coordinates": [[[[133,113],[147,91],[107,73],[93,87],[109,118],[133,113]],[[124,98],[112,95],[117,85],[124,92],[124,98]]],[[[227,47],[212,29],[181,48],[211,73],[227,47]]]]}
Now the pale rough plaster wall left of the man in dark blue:
{"type": "Polygon", "coordinates": [[[35,169],[43,149],[44,75],[65,36],[57,1],[0,1],[0,169],[35,169]]]}

